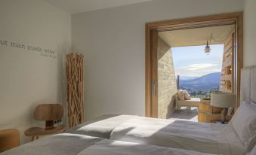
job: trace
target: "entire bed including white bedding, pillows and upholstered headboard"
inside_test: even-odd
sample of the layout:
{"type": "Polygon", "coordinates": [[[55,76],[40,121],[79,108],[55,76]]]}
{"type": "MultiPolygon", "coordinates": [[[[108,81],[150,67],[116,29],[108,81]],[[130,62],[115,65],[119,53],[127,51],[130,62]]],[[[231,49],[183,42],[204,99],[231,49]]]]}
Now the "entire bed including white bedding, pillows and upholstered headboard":
{"type": "Polygon", "coordinates": [[[256,144],[255,68],[242,70],[241,91],[247,102],[227,125],[106,115],[0,154],[242,155],[256,144]]]}

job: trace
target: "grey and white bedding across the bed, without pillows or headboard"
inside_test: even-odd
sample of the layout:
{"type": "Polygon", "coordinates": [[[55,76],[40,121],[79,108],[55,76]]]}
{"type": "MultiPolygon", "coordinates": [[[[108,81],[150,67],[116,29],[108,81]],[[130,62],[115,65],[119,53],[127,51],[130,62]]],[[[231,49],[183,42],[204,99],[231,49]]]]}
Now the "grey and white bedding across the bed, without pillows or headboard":
{"type": "Polygon", "coordinates": [[[221,133],[224,128],[225,125],[183,120],[106,115],[66,133],[41,138],[0,154],[245,154],[234,132],[221,133]]]}

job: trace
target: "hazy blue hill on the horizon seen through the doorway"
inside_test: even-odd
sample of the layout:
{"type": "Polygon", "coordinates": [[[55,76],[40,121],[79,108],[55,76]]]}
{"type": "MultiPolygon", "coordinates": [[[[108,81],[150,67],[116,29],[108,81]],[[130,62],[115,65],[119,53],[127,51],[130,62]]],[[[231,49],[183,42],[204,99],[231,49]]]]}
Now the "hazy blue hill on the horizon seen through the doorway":
{"type": "Polygon", "coordinates": [[[190,92],[194,90],[218,90],[220,82],[221,72],[215,72],[192,80],[180,80],[180,89],[190,92]]]}

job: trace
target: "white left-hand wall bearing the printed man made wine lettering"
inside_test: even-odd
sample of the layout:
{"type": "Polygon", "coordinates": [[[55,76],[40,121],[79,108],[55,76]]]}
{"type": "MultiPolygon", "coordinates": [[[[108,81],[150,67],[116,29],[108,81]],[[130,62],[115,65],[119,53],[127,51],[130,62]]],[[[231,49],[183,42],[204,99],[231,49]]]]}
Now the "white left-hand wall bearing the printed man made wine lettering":
{"type": "Polygon", "coordinates": [[[0,129],[24,130],[42,125],[33,120],[36,105],[62,102],[62,56],[71,44],[71,15],[41,0],[1,0],[0,40],[0,129]],[[10,47],[10,42],[57,51],[57,58],[27,49],[10,47]]]}

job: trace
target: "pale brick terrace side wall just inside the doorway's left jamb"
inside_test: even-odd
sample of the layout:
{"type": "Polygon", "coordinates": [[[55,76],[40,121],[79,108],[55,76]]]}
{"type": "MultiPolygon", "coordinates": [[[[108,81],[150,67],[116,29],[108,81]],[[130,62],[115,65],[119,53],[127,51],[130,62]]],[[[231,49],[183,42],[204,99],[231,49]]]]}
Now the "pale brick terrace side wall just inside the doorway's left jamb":
{"type": "Polygon", "coordinates": [[[174,94],[177,93],[174,62],[171,47],[158,38],[158,115],[168,118],[174,111],[174,94]]]}

